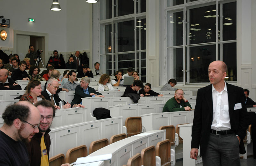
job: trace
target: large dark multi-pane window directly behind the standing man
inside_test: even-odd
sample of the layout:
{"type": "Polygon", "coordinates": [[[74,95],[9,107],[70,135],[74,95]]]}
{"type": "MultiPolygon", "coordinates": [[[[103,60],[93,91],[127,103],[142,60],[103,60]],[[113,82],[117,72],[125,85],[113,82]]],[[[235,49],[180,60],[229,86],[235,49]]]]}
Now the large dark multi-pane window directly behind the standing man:
{"type": "Polygon", "coordinates": [[[208,65],[221,60],[225,80],[236,81],[236,1],[166,0],[165,13],[168,75],[184,84],[209,82],[208,65]]]}

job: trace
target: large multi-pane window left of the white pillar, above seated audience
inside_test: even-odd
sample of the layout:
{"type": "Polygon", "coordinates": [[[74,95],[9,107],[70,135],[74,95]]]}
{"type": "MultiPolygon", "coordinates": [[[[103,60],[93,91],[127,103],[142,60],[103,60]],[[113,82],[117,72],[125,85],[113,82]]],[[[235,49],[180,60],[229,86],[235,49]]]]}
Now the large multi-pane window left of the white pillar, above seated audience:
{"type": "Polygon", "coordinates": [[[146,82],[146,0],[100,0],[100,65],[146,82]]]}

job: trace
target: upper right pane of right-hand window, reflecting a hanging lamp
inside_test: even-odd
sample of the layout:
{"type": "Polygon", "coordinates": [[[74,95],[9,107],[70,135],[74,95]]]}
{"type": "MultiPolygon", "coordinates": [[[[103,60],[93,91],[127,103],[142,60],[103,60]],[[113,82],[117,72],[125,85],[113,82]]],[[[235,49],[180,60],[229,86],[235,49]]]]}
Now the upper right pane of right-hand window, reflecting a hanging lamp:
{"type": "Polygon", "coordinates": [[[223,4],[223,41],[236,40],[236,2],[223,4]]]}

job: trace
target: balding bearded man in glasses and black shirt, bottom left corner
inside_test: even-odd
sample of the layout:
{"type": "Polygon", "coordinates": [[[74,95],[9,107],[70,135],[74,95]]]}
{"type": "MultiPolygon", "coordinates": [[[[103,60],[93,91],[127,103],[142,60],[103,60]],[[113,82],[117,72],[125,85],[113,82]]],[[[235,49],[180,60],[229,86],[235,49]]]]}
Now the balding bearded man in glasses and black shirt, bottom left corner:
{"type": "Polygon", "coordinates": [[[0,128],[0,165],[30,165],[24,142],[39,132],[40,112],[31,103],[21,101],[8,106],[0,128]]]}

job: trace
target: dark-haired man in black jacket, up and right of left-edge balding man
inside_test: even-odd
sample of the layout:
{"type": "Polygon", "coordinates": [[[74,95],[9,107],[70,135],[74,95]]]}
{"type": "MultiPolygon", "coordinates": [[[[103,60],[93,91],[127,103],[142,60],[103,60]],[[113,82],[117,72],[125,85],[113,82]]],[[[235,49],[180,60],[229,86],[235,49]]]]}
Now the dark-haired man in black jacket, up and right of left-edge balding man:
{"type": "Polygon", "coordinates": [[[27,64],[26,64],[25,61],[20,61],[19,69],[12,72],[11,78],[14,81],[16,81],[16,80],[29,80],[28,73],[25,71],[26,65],[27,64]]]}

